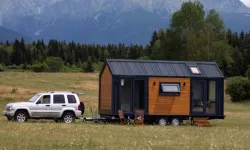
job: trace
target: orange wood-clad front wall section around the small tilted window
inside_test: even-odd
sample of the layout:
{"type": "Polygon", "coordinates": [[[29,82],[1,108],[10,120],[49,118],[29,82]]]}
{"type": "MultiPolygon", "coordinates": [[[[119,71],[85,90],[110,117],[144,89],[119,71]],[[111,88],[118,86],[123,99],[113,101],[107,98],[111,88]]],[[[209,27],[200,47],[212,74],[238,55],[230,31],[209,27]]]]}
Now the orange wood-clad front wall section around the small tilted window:
{"type": "Polygon", "coordinates": [[[150,115],[189,115],[190,79],[189,78],[149,78],[149,114],[150,115]],[[156,82],[155,85],[154,82],[156,82]],[[159,95],[159,82],[180,82],[180,96],[159,95]],[[186,85],[183,86],[183,83],[186,85]]]}

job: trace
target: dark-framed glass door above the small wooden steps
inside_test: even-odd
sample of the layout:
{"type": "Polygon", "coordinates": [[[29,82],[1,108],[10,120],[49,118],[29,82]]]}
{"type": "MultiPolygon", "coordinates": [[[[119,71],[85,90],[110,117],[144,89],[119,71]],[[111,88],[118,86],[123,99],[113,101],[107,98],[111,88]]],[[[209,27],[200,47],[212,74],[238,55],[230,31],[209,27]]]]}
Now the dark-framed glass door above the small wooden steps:
{"type": "Polygon", "coordinates": [[[214,115],[216,111],[216,81],[193,80],[191,82],[191,113],[214,115]]]}

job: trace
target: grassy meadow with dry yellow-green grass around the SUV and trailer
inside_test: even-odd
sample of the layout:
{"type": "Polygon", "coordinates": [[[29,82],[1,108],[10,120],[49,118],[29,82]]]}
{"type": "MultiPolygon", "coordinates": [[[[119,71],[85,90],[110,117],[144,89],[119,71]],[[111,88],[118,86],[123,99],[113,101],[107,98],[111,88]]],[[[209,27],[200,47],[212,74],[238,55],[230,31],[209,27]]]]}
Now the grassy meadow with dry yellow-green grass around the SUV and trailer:
{"type": "MultiPolygon", "coordinates": [[[[98,74],[83,73],[0,73],[0,111],[8,102],[26,101],[34,93],[48,90],[85,92],[81,100],[97,109],[98,74]],[[11,93],[13,89],[16,93],[11,93]]],[[[228,99],[228,98],[227,98],[228,99]]],[[[225,100],[224,120],[212,121],[211,128],[189,124],[179,127],[144,127],[55,123],[29,120],[8,122],[0,116],[0,149],[250,149],[250,103],[225,100]]]]}

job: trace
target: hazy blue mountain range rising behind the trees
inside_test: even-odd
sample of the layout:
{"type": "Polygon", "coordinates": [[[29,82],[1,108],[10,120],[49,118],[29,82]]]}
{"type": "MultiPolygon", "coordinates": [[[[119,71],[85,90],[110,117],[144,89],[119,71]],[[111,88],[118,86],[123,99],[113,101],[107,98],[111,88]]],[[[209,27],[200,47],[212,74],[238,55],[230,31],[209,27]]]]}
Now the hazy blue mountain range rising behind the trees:
{"type": "MultiPolygon", "coordinates": [[[[167,28],[171,14],[187,1],[0,0],[0,26],[33,40],[147,44],[153,30],[167,28]]],[[[199,1],[206,11],[218,11],[226,28],[250,30],[250,8],[240,0],[199,1]]]]}

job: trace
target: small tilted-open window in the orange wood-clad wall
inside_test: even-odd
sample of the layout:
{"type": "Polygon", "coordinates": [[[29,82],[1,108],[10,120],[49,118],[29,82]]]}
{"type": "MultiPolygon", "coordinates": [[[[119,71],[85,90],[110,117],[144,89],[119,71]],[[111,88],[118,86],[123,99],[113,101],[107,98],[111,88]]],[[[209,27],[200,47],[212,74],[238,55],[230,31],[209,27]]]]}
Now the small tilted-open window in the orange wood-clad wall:
{"type": "Polygon", "coordinates": [[[180,95],[180,83],[160,83],[160,95],[180,95]]]}

